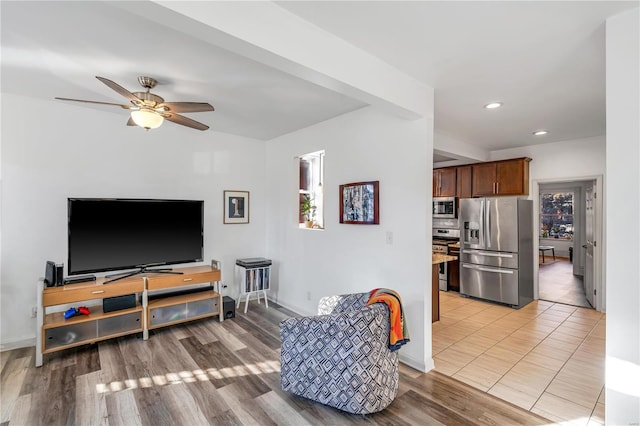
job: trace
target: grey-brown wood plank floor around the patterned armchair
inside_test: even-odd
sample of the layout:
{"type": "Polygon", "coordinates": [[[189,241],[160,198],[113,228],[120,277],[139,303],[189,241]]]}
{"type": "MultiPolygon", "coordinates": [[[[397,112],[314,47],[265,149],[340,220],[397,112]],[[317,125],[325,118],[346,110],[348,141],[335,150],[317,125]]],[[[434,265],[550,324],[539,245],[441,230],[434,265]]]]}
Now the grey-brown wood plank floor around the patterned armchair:
{"type": "Polygon", "coordinates": [[[356,416],[280,390],[278,323],[292,312],[249,312],[159,329],[45,356],[1,354],[6,425],[542,425],[531,412],[446,375],[401,364],[397,398],[356,416]]]}

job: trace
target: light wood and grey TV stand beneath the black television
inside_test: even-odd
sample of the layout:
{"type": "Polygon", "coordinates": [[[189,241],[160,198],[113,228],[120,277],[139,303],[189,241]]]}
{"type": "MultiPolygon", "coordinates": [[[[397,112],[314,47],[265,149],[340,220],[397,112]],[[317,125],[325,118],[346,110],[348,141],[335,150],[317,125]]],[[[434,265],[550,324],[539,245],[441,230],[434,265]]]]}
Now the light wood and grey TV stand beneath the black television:
{"type": "MultiPolygon", "coordinates": [[[[219,268],[219,262],[216,262],[215,266],[192,266],[161,272],[161,275],[120,277],[121,281],[110,285],[104,285],[104,278],[98,278],[45,288],[41,278],[37,294],[36,367],[42,365],[43,355],[75,346],[136,333],[142,333],[143,339],[147,340],[151,329],[202,318],[218,317],[222,322],[222,296],[216,291],[221,279],[219,268]],[[149,300],[149,292],[181,291],[193,284],[206,283],[210,286],[197,293],[165,295],[158,292],[152,296],[153,300],[149,300]],[[142,296],[142,300],[129,309],[104,312],[101,305],[86,303],[132,293],[136,294],[136,299],[138,295],[142,296]],[[47,312],[47,309],[62,305],[86,305],[91,312],[69,319],[64,318],[63,312],[47,312]]],[[[149,269],[147,272],[157,271],[149,269]]]]}

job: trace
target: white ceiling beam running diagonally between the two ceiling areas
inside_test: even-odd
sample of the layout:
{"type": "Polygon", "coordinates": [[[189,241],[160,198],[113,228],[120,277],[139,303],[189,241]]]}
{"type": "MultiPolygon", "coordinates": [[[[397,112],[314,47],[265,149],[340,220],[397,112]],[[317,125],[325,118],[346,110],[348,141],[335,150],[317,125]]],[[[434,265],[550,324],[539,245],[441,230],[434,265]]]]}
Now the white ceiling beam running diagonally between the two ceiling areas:
{"type": "Polygon", "coordinates": [[[116,4],[400,117],[433,117],[433,88],[272,2],[116,4]]]}

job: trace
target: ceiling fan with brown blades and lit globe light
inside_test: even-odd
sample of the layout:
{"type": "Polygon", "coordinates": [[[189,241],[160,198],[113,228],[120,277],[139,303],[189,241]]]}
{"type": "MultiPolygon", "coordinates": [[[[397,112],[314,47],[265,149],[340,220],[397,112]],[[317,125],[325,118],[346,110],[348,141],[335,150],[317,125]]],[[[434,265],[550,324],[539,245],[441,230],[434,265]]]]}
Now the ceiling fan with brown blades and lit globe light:
{"type": "Polygon", "coordinates": [[[129,92],[124,87],[107,78],[98,76],[96,76],[96,78],[127,98],[129,102],[131,102],[131,105],[58,97],[55,99],[61,101],[113,105],[123,109],[128,109],[131,111],[131,116],[129,117],[127,126],[140,126],[147,130],[160,127],[164,120],[169,120],[176,124],[181,124],[197,130],[207,130],[209,128],[206,124],[202,124],[177,113],[213,111],[213,107],[210,104],[206,102],[165,102],[160,96],[151,93],[150,90],[158,84],[158,82],[151,77],[138,77],[138,83],[147,89],[146,92],[129,92]]]}

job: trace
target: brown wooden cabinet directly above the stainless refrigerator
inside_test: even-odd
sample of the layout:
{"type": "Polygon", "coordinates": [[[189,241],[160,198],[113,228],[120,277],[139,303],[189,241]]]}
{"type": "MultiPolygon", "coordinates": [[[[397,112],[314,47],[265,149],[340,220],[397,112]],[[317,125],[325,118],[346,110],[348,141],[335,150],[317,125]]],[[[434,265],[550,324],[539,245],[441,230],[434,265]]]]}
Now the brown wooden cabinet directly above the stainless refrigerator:
{"type": "Polygon", "coordinates": [[[472,195],[529,195],[530,158],[473,164],[472,195]]]}

